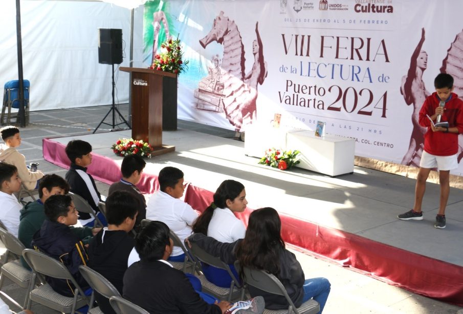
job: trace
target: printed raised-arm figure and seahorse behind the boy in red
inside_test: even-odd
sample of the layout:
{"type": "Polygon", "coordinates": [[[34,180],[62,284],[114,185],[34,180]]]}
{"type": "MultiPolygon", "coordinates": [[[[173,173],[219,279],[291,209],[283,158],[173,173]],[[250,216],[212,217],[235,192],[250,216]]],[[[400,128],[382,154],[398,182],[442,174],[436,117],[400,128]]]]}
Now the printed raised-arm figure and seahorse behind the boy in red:
{"type": "MultiPolygon", "coordinates": [[[[427,128],[421,127],[418,123],[418,116],[423,103],[430,95],[426,90],[423,81],[423,72],[427,68],[428,54],[422,50],[425,41],[425,29],[422,29],[421,39],[413,51],[410,59],[410,68],[407,75],[402,77],[401,94],[404,96],[405,103],[409,106],[413,104],[411,120],[413,131],[410,137],[408,151],[402,159],[402,164],[420,166],[421,155],[424,148],[424,134],[427,128]]],[[[454,92],[459,98],[463,99],[463,74],[459,70],[463,59],[463,32],[456,35],[455,40],[447,51],[447,56],[442,62],[440,73],[448,73],[455,79],[454,92]]],[[[463,157],[463,135],[458,136],[458,163],[463,157]]]]}

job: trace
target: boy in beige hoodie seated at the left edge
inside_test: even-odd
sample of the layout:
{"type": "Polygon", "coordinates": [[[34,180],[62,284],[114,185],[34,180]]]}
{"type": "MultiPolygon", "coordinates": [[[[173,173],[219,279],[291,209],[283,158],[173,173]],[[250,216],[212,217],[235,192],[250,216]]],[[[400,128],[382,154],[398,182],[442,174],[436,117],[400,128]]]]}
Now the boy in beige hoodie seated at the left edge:
{"type": "Polygon", "coordinates": [[[19,178],[28,190],[37,189],[37,181],[43,177],[41,171],[32,172],[27,168],[26,158],[16,148],[21,144],[19,129],[8,125],[0,129],[0,134],[5,144],[0,144],[0,161],[16,166],[19,178]]]}

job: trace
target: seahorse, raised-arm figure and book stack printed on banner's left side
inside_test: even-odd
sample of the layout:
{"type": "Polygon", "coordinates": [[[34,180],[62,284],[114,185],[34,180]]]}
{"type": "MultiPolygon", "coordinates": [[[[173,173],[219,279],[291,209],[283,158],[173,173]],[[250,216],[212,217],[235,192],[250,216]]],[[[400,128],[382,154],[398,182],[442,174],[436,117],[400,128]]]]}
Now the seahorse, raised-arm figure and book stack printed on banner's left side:
{"type": "Polygon", "coordinates": [[[228,121],[241,131],[245,125],[256,119],[257,85],[267,77],[267,62],[263,59],[263,46],[258,22],[252,52],[254,64],[245,74],[245,49],[241,35],[233,20],[222,11],[215,19],[212,30],[200,40],[201,46],[217,41],[224,46],[222,62],[218,55],[213,57],[209,75],[203,78],[194,92],[196,108],[225,112],[228,121]]]}

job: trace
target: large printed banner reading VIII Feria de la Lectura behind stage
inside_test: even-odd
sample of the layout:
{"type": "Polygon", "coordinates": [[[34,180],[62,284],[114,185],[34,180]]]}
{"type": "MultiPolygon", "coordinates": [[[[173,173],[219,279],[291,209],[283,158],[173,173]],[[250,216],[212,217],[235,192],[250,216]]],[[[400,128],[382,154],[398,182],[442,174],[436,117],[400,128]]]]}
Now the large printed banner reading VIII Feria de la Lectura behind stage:
{"type": "Polygon", "coordinates": [[[462,9],[424,0],[153,1],[145,62],[166,36],[180,36],[190,63],[179,118],[240,131],[275,114],[288,127],[323,121],[326,133],[356,139],[357,156],[417,165],[425,131],[417,114],[434,77],[451,73],[463,96],[462,9]]]}

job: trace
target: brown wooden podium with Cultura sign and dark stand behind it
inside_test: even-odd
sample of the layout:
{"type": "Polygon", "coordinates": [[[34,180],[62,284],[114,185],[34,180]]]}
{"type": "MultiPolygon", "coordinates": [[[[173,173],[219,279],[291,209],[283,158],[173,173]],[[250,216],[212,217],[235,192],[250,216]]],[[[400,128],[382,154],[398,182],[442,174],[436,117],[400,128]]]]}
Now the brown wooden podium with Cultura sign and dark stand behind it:
{"type": "Polygon", "coordinates": [[[162,143],[162,131],[164,121],[164,130],[177,130],[177,75],[147,68],[119,69],[132,74],[132,138],[153,146],[152,156],[174,152],[175,146],[162,143]]]}

